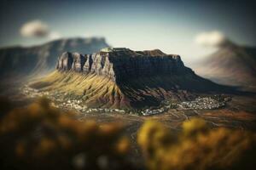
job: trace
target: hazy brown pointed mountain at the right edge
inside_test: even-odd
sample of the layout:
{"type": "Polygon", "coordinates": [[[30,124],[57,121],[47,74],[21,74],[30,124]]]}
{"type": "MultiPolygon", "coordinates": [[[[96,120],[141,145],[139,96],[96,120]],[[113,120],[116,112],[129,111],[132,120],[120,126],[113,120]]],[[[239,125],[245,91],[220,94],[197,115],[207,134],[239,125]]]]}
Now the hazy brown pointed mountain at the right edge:
{"type": "Polygon", "coordinates": [[[229,42],[193,68],[214,82],[256,89],[256,48],[229,42]]]}

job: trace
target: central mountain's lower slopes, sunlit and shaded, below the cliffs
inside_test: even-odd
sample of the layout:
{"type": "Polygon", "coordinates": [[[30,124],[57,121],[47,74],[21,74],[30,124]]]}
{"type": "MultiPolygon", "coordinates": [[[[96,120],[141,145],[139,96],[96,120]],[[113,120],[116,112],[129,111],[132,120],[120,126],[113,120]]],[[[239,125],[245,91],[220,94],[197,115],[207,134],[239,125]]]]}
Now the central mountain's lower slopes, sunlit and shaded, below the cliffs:
{"type": "Polygon", "coordinates": [[[119,82],[74,71],[54,71],[31,82],[30,87],[50,94],[59,93],[67,99],[81,99],[89,107],[121,109],[157,106],[164,99],[190,99],[193,97],[190,92],[226,89],[194,74],[139,77],[119,82]]]}

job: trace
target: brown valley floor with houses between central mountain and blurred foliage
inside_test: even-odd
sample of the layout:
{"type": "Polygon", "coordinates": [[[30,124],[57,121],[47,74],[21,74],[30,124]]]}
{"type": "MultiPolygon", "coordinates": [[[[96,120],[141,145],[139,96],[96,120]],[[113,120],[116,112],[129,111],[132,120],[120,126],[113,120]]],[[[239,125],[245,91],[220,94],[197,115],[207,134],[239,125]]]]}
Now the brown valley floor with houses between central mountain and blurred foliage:
{"type": "MultiPolygon", "coordinates": [[[[16,105],[26,105],[31,103],[31,101],[34,99],[45,95],[52,100],[53,105],[56,105],[57,107],[64,110],[78,112],[77,115],[80,121],[83,121],[84,119],[95,119],[96,122],[124,122],[124,124],[127,124],[127,126],[129,125],[132,127],[134,124],[140,124],[140,122],[143,122],[144,120],[155,119],[157,121],[163,122],[167,127],[179,130],[179,125],[183,121],[188,120],[194,116],[200,116],[201,118],[205,119],[212,127],[235,127],[241,129],[246,128],[256,130],[256,94],[232,95],[231,98],[228,97],[228,99],[226,97],[219,99],[221,101],[218,103],[214,103],[216,101],[214,101],[212,98],[199,97],[190,102],[185,101],[174,106],[171,105],[168,110],[165,110],[160,114],[138,116],[138,114],[131,114],[131,111],[127,113],[124,110],[118,109],[93,110],[88,109],[86,106],[83,108],[81,105],[79,105],[79,100],[67,100],[65,101],[66,105],[63,105],[63,101],[61,101],[61,99],[53,99],[51,98],[52,95],[50,94],[38,95],[37,92],[28,92],[28,88],[24,88],[23,85],[22,88],[19,89],[17,89],[18,86],[14,87],[15,88],[13,90],[10,88],[8,89],[14,93],[6,94],[6,92],[1,92],[0,96],[5,94],[5,96],[8,96],[9,99],[13,100],[16,105]],[[213,108],[203,107],[203,105],[198,106],[198,103],[200,102],[208,102],[211,103],[211,105],[217,106],[213,108]],[[189,105],[192,106],[189,107],[189,105]]],[[[153,111],[153,109],[151,111],[153,111]]]]}

